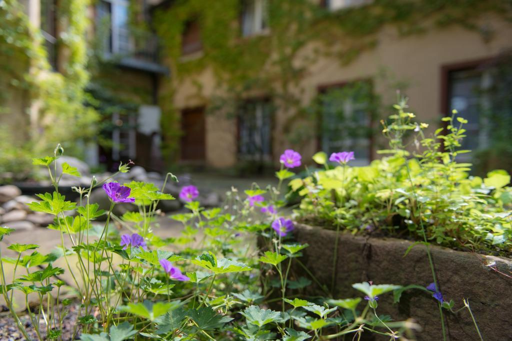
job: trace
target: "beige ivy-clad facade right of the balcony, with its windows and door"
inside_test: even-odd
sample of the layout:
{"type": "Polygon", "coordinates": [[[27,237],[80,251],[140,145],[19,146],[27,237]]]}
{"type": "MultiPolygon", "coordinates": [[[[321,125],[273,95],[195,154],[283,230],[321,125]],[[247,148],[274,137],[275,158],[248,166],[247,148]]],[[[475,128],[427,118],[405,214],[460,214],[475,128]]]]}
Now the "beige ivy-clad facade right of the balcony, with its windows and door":
{"type": "MultiPolygon", "coordinates": [[[[286,148],[306,160],[354,150],[354,164],[368,164],[383,147],[379,120],[390,115],[396,89],[419,120],[438,127],[457,109],[469,120],[464,147],[490,146],[483,92],[507,82],[497,70],[510,63],[509,5],[420,1],[402,13],[409,5],[400,1],[218,3],[167,1],[154,16],[161,36],[180,34],[163,36],[173,78],[159,90],[172,94],[182,164],[275,165],[286,148]]],[[[512,115],[510,104],[500,110],[512,115]]]]}

